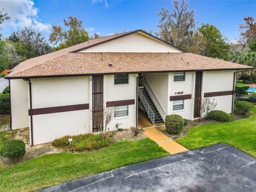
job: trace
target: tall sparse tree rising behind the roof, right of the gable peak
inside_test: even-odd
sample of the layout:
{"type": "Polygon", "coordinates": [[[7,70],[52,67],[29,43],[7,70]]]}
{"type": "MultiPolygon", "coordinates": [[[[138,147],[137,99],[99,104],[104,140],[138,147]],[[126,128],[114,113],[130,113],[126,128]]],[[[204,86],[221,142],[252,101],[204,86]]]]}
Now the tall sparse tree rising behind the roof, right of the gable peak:
{"type": "Polygon", "coordinates": [[[157,14],[160,20],[159,32],[156,35],[164,41],[188,51],[195,28],[194,11],[188,10],[185,0],[173,0],[172,4],[174,10],[162,7],[157,14]]]}

